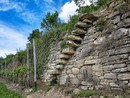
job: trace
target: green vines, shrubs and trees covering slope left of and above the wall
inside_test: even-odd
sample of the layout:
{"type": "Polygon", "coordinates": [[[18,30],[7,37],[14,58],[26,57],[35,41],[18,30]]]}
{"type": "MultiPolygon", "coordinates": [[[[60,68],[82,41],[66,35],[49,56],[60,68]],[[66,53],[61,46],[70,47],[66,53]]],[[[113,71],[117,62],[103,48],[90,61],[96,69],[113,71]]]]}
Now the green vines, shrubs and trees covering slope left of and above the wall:
{"type": "MultiPolygon", "coordinates": [[[[79,1],[84,0],[75,0],[77,5],[80,5],[79,1]]],[[[77,23],[79,15],[82,13],[91,13],[97,11],[99,8],[107,4],[109,0],[98,0],[93,2],[91,0],[90,6],[80,6],[77,10],[77,15],[71,16],[70,20],[65,23],[59,19],[58,12],[50,13],[48,12],[45,18],[41,22],[41,29],[33,30],[29,37],[29,66],[30,66],[30,75],[31,80],[33,80],[33,48],[32,40],[36,41],[36,58],[37,58],[37,77],[38,79],[43,74],[46,69],[46,65],[49,61],[50,49],[52,44],[62,40],[65,35],[71,34],[71,31],[74,28],[74,25],[77,23]]],[[[102,22],[102,21],[100,21],[102,22]]],[[[100,23],[99,23],[100,24],[100,23]]],[[[102,24],[102,23],[101,23],[102,24]]],[[[66,47],[66,39],[61,43],[61,49],[66,47]]],[[[18,50],[15,55],[7,55],[6,58],[0,58],[1,71],[0,75],[3,78],[9,80],[15,80],[15,82],[23,84],[26,80],[26,50],[18,50]],[[6,65],[6,66],[5,66],[6,65]],[[13,73],[13,66],[15,67],[13,73]],[[5,70],[5,68],[7,70],[5,70]],[[7,76],[7,77],[6,77],[7,76]]]]}

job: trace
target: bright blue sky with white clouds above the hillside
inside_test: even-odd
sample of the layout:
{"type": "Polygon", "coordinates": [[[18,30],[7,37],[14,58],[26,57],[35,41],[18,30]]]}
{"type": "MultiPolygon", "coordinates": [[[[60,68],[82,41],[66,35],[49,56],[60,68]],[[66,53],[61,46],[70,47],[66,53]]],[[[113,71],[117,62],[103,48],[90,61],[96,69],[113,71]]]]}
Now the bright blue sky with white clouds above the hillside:
{"type": "Polygon", "coordinates": [[[40,28],[47,12],[58,11],[68,22],[77,9],[73,0],[0,0],[0,57],[25,49],[29,34],[40,28]]]}

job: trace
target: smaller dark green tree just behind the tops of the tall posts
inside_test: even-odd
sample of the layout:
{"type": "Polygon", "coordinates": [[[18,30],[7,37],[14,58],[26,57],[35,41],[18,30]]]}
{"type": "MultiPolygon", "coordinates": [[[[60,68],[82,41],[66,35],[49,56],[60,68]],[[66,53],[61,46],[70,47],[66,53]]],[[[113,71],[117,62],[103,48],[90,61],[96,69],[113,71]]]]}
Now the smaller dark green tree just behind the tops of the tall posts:
{"type": "Polygon", "coordinates": [[[33,30],[32,33],[29,35],[28,40],[30,43],[32,43],[33,39],[40,39],[42,36],[42,32],[39,31],[39,29],[33,30]]]}

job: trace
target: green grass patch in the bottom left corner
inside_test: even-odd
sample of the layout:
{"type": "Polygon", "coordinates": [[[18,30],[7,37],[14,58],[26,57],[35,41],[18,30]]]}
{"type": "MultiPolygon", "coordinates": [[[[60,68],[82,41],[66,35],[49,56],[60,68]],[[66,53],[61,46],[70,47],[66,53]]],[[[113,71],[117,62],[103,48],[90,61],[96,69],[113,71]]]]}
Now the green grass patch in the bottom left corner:
{"type": "Polygon", "coordinates": [[[7,87],[0,83],[0,98],[24,98],[20,94],[7,89],[7,87]]]}

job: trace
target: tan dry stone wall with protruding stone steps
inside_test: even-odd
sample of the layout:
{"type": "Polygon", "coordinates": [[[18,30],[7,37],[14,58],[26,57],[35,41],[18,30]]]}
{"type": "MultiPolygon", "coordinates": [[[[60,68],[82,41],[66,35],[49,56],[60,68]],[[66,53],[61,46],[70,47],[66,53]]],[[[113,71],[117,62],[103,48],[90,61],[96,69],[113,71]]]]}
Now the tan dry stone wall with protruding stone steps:
{"type": "Polygon", "coordinates": [[[68,37],[68,47],[54,51],[46,82],[55,80],[83,90],[130,86],[130,10],[112,10],[123,4],[111,2],[98,14],[79,18],[68,37]]]}

